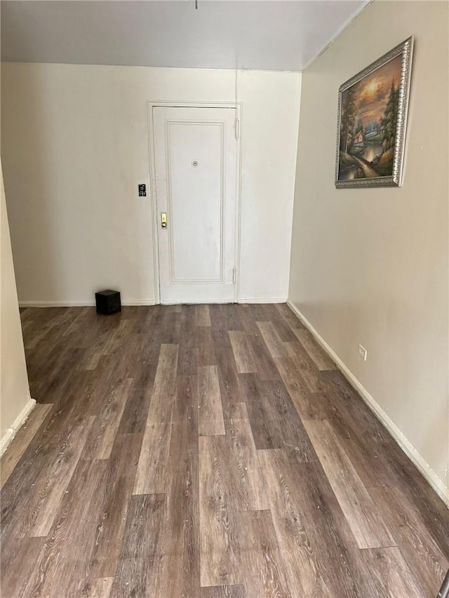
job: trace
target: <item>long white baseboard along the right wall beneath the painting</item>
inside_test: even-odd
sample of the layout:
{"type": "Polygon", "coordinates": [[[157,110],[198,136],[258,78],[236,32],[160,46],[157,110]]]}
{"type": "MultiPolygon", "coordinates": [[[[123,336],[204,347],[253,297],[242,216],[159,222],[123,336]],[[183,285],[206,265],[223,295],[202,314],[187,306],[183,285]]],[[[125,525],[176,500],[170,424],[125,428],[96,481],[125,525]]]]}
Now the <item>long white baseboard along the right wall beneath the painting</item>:
{"type": "Polygon", "coordinates": [[[383,424],[385,428],[389,431],[394,440],[398,443],[404,453],[408,456],[410,461],[417,467],[418,470],[422,473],[425,477],[427,482],[431,485],[431,487],[436,491],[436,494],[441,498],[441,500],[449,506],[449,488],[445,487],[443,480],[441,480],[438,475],[434,472],[434,470],[429,466],[429,463],[425,461],[422,455],[415,449],[413,444],[408,440],[408,438],[401,432],[401,430],[396,426],[396,423],[384,412],[382,407],[375,401],[375,399],[368,393],[368,390],[364,388],[364,386],[356,379],[356,376],[352,374],[352,372],[347,368],[346,365],[342,362],[342,360],[338,357],[337,353],[333,351],[326,341],[321,337],[319,332],[314,329],[311,325],[309,320],[300,312],[300,310],[293,305],[291,301],[287,300],[287,305],[297,315],[297,318],[301,320],[307,329],[313,334],[316,341],[321,345],[321,347],[328,353],[330,358],[332,358],[337,367],[340,369],[342,374],[347,378],[351,386],[355,388],[359,395],[361,395],[366,405],[370,407],[371,411],[375,414],[377,419],[383,424]]]}

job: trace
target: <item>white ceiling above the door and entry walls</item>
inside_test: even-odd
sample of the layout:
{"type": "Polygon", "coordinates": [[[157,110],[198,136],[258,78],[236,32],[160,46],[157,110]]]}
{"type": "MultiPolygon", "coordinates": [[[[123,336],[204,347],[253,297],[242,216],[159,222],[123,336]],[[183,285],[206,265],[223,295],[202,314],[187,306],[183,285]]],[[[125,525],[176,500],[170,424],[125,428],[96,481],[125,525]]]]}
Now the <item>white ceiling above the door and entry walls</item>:
{"type": "Polygon", "coordinates": [[[300,71],[367,0],[1,2],[1,60],[300,71]]]}

